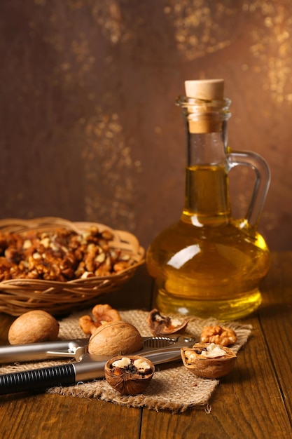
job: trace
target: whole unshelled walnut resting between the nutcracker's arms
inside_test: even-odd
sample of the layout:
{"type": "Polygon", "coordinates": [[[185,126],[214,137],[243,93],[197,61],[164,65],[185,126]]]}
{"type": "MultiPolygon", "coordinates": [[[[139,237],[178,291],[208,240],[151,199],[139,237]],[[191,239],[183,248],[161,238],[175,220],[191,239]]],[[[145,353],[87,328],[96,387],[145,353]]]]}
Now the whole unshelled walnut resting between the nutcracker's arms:
{"type": "Polygon", "coordinates": [[[88,342],[88,352],[94,355],[118,356],[138,352],[143,339],[137,327],[123,321],[113,321],[97,327],[88,342]]]}

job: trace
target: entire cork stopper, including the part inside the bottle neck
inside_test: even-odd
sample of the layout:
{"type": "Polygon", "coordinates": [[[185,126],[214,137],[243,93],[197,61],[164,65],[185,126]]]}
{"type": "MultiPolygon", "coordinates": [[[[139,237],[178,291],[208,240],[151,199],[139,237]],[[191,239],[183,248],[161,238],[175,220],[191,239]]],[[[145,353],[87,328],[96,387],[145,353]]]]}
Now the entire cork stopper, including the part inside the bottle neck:
{"type": "Polygon", "coordinates": [[[222,121],[216,118],[208,102],[223,100],[223,79],[202,79],[197,81],[185,81],[186,96],[202,100],[200,112],[189,114],[190,133],[218,133],[222,130],[222,121]],[[207,102],[206,102],[207,101],[207,102]]]}

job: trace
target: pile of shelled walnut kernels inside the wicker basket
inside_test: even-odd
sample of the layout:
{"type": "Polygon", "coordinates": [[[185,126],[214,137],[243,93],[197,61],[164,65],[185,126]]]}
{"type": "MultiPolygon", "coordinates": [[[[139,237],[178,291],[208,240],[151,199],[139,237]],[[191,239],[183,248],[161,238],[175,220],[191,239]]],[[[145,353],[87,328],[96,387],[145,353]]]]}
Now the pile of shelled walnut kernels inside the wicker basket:
{"type": "Polygon", "coordinates": [[[120,273],[133,261],[111,248],[112,238],[111,231],[97,227],[83,234],[62,228],[0,233],[0,282],[16,278],[66,282],[120,273]]]}

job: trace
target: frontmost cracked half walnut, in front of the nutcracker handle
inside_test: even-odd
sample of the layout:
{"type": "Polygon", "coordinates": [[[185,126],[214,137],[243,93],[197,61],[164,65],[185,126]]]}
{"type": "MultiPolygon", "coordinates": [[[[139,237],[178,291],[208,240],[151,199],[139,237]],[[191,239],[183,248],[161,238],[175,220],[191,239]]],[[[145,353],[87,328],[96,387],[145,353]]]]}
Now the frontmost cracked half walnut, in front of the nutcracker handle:
{"type": "Polygon", "coordinates": [[[141,356],[116,356],[104,367],[106,381],[122,395],[138,395],[146,391],[155,367],[141,356]]]}

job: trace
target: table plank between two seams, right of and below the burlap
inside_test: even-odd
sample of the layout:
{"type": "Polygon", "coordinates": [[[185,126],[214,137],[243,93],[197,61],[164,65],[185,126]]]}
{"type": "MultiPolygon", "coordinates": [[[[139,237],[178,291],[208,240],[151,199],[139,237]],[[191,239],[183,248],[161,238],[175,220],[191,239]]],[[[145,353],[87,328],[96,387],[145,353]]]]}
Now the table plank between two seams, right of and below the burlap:
{"type": "MultiPolygon", "coordinates": [[[[141,439],[237,438],[266,439],[292,437],[269,349],[256,317],[253,335],[228,377],[221,379],[209,407],[190,409],[183,414],[144,410],[141,439]]],[[[191,389],[190,389],[191,391],[191,389]]]]}

